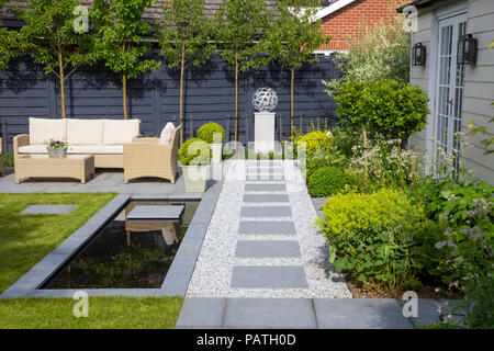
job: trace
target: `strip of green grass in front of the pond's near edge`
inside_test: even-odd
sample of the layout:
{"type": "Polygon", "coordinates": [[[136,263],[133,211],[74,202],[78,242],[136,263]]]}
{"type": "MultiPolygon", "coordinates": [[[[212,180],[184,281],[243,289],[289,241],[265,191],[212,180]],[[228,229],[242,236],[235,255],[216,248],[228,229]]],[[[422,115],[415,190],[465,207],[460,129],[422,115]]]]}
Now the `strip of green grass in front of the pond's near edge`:
{"type": "Polygon", "coordinates": [[[71,298],[0,299],[0,329],[169,329],[181,297],[89,297],[88,317],[72,314],[71,298]]]}

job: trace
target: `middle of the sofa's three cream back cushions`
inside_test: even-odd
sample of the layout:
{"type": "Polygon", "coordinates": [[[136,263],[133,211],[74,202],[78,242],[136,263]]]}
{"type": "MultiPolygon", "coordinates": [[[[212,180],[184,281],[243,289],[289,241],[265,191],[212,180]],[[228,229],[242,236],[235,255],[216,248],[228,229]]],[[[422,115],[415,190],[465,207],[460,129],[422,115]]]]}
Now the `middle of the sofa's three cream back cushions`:
{"type": "Polygon", "coordinates": [[[69,145],[103,144],[103,120],[67,120],[67,143],[69,145]]]}

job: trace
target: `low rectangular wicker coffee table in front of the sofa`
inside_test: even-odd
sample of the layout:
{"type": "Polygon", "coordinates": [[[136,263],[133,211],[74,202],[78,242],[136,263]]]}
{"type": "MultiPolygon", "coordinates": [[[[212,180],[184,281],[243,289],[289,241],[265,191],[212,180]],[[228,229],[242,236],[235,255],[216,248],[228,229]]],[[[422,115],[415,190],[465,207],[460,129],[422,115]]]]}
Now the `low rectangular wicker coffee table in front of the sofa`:
{"type": "Polygon", "coordinates": [[[14,162],[15,183],[24,178],[75,178],[82,184],[94,177],[92,155],[67,155],[49,158],[48,155],[22,155],[14,162]]]}

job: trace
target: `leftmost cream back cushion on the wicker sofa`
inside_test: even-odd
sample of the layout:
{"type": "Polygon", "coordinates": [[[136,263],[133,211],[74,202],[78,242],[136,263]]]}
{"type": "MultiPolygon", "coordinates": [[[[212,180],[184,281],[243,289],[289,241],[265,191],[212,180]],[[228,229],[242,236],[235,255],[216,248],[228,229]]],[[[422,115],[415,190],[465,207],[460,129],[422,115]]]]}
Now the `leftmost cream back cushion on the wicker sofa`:
{"type": "Polygon", "coordinates": [[[67,120],[30,118],[30,144],[41,145],[49,139],[67,140],[67,120]]]}

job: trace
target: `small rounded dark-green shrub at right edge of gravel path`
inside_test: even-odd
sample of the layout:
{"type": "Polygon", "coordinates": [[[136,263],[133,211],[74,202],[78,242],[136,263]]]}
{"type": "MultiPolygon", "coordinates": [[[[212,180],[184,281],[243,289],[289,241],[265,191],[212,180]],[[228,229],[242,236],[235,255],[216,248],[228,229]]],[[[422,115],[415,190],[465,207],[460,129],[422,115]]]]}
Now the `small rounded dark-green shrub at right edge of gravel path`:
{"type": "Polygon", "coordinates": [[[346,184],[347,177],[336,167],[316,169],[308,178],[308,191],[315,197],[332,196],[346,184]]]}

